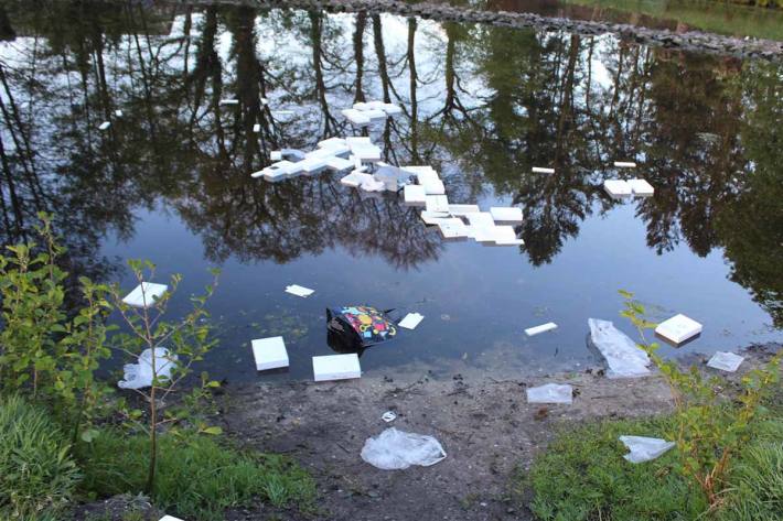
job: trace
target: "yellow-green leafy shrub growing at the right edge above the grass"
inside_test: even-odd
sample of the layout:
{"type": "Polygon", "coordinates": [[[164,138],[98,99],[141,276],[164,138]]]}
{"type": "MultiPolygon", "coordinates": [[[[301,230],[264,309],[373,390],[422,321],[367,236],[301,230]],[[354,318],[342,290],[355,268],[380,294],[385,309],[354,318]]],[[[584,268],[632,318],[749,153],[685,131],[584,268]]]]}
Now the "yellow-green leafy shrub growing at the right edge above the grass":
{"type": "Polygon", "coordinates": [[[779,380],[783,350],[765,366],[743,376],[736,402],[728,402],[721,394],[727,387],[722,379],[706,377],[696,366],[683,370],[676,361],[664,360],[656,352],[658,344],[648,343],[645,337],[645,330],[657,324],[646,318],[646,310],[634,300],[633,293],[620,294],[625,299],[621,315],[636,327],[641,337],[639,347],[647,352],[672,389],[676,417],[672,435],[683,471],[696,480],[715,509],[722,503],[732,458],[749,441],[752,422],[764,413],[762,400],[779,380]]]}

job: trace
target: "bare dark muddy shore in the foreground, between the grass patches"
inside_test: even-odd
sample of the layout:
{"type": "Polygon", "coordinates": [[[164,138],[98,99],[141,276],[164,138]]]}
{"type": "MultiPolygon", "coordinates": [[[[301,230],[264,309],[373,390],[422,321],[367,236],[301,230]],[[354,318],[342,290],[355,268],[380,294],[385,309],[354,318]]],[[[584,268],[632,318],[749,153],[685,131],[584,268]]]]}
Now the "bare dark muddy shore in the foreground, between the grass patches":
{"type": "MultiPolygon", "coordinates": [[[[721,373],[729,382],[726,392],[780,348],[744,350],[740,370],[721,373]]],[[[693,355],[683,363],[704,365],[707,358],[693,355]]],[[[217,421],[227,435],[240,446],[290,455],[313,475],[319,492],[314,515],[259,507],[232,512],[227,520],[532,520],[525,498],[510,489],[508,480],[559,428],[650,416],[673,406],[661,376],[611,380],[598,368],[506,380],[476,370],[449,379],[409,375],[229,384],[224,391],[217,421]],[[573,404],[528,404],[525,389],[548,382],[571,384],[573,404]],[[385,423],[385,411],[397,419],[385,423]],[[364,441],[388,426],[436,436],[448,457],[427,468],[372,467],[360,457],[364,441]]]]}

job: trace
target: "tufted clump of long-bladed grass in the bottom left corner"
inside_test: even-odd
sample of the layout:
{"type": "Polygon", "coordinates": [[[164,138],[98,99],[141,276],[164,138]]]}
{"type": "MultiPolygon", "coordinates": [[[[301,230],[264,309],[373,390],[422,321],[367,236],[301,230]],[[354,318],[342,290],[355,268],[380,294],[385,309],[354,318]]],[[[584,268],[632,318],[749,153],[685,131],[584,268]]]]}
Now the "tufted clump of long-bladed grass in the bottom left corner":
{"type": "Polygon", "coordinates": [[[65,434],[18,397],[0,400],[0,519],[44,520],[79,479],[65,434]]]}

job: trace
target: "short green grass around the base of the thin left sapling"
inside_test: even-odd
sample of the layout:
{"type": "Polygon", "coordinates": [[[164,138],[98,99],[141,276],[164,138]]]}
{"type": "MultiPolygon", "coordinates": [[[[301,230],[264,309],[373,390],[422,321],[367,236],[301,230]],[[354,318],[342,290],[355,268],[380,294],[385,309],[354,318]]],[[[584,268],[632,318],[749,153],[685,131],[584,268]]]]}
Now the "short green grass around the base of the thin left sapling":
{"type": "MultiPolygon", "coordinates": [[[[315,497],[310,476],[290,459],[240,452],[208,436],[159,438],[155,507],[189,520],[216,521],[233,507],[259,500],[309,510],[315,497]]],[[[138,493],[147,477],[148,439],[103,432],[81,452],[83,491],[98,497],[138,493]]]]}

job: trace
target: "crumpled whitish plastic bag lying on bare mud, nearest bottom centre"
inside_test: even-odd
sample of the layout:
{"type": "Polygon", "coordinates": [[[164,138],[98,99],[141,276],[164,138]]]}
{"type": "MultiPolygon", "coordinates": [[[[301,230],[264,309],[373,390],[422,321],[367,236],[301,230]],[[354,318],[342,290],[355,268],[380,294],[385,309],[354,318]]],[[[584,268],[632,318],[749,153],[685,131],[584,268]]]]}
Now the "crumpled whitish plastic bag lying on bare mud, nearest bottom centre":
{"type": "Polygon", "coordinates": [[[429,467],[444,458],[446,451],[438,439],[395,427],[367,438],[362,448],[362,459],[382,470],[401,470],[411,465],[429,467]]]}

